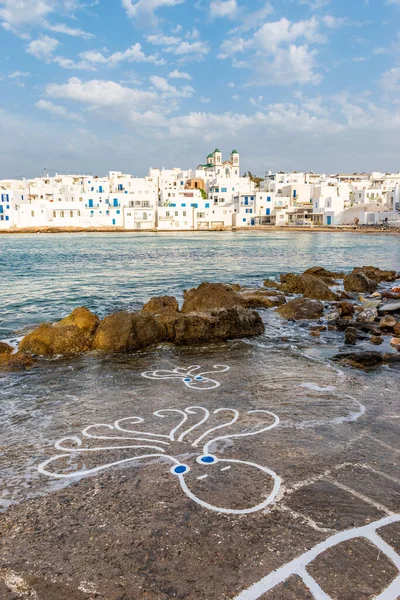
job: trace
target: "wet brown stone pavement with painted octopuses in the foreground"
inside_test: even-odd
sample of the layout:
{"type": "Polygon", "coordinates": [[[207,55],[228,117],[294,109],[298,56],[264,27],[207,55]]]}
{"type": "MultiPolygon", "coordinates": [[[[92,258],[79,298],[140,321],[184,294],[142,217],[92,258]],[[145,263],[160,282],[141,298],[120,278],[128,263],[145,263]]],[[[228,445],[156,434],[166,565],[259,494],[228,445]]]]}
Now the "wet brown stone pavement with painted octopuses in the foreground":
{"type": "Polygon", "coordinates": [[[317,352],[287,327],[287,343],[267,328],[5,376],[1,600],[318,600],[315,586],[372,600],[388,588],[397,568],[357,528],[378,522],[399,552],[400,373],[338,369],[330,332],[317,352]],[[299,574],[292,561],[316,547],[299,574]]]}

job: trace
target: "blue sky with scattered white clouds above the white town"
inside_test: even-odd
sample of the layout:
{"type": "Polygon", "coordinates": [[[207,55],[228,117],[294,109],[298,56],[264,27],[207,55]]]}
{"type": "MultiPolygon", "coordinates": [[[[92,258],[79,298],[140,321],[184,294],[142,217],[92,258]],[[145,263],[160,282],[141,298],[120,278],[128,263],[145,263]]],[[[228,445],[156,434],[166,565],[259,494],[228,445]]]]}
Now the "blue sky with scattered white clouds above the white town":
{"type": "Polygon", "coordinates": [[[0,0],[0,177],[400,169],[400,0],[0,0]]]}

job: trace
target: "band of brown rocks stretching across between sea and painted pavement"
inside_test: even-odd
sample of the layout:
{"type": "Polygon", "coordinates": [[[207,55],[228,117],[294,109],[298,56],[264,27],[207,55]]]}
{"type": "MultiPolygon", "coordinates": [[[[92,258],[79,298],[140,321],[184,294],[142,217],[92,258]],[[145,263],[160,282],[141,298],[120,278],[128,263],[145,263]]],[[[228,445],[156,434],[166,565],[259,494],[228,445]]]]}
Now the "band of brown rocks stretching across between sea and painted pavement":
{"type": "Polygon", "coordinates": [[[42,323],[18,350],[0,343],[0,370],[31,368],[39,358],[86,352],[132,353],[157,344],[192,346],[248,338],[264,333],[256,309],[275,309],[286,322],[306,322],[310,336],[343,332],[346,346],[368,339],[375,346],[390,339],[391,352],[341,352],[334,357],[356,368],[400,362],[400,275],[377,267],[344,274],[312,267],[301,275],[281,274],[260,288],[202,283],[176,298],[152,298],[138,312],[119,311],[102,321],[86,307],[57,323],[42,323]],[[396,283],[397,281],[397,283],[396,283]],[[397,351],[397,352],[396,352],[397,351]]]}

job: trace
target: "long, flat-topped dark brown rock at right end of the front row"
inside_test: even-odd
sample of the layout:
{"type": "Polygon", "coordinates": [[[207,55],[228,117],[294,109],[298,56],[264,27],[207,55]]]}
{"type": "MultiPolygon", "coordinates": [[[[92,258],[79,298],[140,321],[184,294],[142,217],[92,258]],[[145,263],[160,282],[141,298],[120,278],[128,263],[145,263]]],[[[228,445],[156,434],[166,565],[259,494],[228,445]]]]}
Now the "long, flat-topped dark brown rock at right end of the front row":
{"type": "Polygon", "coordinates": [[[180,345],[261,335],[265,329],[257,312],[240,307],[205,314],[181,313],[174,328],[174,341],[180,345]]]}

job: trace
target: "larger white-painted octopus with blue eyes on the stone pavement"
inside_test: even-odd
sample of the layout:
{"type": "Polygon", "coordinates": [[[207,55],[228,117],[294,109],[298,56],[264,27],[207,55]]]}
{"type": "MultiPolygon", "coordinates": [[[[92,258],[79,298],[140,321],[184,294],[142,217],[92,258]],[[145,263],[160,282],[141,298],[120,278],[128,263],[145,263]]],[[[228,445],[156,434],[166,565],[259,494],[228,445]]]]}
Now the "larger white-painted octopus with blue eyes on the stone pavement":
{"type": "Polygon", "coordinates": [[[161,409],[153,415],[156,419],[167,419],[169,428],[172,417],[173,427],[169,433],[145,431],[141,417],[123,418],[112,425],[90,425],[83,429],[80,437],[59,440],[55,448],[60,453],[41,463],[38,470],[56,479],[82,478],[139,460],[146,460],[150,465],[159,460],[168,464],[171,476],[177,478],[183,493],[205,509],[246,515],[274,501],[281,479],[272,469],[255,462],[224,458],[221,449],[235,439],[271,431],[279,424],[277,415],[268,410],[240,413],[233,408],[217,408],[211,413],[202,406],[161,409]],[[219,424],[210,427],[211,420],[219,424]],[[117,451],[128,452],[129,456],[104,461],[107,453],[117,451]],[[180,460],[178,456],[185,458],[180,460]],[[77,461],[92,459],[101,464],[75,468],[77,461]],[[61,469],[66,463],[68,467],[61,469]]]}

